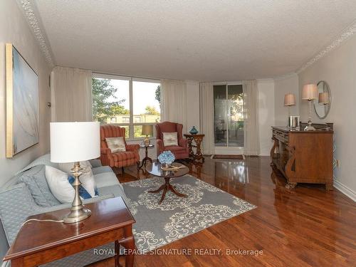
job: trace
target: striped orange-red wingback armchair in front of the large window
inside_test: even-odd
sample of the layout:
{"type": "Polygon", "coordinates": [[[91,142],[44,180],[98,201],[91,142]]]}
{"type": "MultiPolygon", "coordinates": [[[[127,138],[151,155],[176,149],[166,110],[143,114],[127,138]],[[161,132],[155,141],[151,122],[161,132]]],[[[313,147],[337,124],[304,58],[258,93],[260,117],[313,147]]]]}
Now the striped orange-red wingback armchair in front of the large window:
{"type": "Polygon", "coordinates": [[[101,164],[110,167],[126,167],[137,164],[140,161],[138,150],[140,145],[127,145],[125,140],[125,128],[114,125],[100,126],[100,160],[101,164]],[[105,141],[106,137],[124,137],[125,152],[112,153],[105,141]]]}

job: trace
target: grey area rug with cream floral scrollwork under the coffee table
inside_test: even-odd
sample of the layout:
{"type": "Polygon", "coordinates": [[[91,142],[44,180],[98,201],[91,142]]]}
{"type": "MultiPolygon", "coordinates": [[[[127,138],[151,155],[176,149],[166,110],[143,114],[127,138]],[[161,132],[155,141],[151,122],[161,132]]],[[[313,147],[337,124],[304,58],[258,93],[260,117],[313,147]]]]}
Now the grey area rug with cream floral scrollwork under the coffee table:
{"type": "Polygon", "coordinates": [[[122,184],[127,204],[136,220],[132,232],[140,253],[147,253],[256,208],[191,175],[171,179],[177,191],[188,197],[177,197],[167,192],[162,204],[158,204],[162,192],[153,194],[147,191],[162,184],[164,179],[161,177],[122,184]]]}

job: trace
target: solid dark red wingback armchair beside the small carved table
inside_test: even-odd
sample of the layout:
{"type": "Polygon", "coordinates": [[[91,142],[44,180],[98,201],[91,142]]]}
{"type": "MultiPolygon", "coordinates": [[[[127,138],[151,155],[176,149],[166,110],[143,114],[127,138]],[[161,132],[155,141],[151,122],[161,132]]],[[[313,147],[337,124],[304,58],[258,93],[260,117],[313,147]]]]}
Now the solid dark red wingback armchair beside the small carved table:
{"type": "Polygon", "coordinates": [[[188,142],[183,138],[183,125],[175,122],[162,122],[155,125],[157,132],[157,156],[164,150],[170,150],[176,159],[187,159],[189,157],[188,142]],[[164,147],[163,132],[177,132],[178,145],[164,147]]]}

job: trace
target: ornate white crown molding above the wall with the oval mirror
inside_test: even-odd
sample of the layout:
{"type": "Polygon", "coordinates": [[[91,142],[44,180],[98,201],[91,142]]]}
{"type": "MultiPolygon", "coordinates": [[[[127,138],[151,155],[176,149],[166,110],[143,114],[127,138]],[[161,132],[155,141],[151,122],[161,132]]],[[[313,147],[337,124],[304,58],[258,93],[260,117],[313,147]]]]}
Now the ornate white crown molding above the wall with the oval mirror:
{"type": "Polygon", "coordinates": [[[345,28],[342,33],[337,36],[337,38],[331,43],[329,46],[326,46],[321,50],[319,53],[317,53],[313,58],[311,58],[307,63],[305,63],[303,66],[298,68],[296,73],[301,73],[303,70],[308,68],[309,66],[313,65],[315,62],[319,61],[320,58],[323,58],[326,56],[328,53],[333,51],[335,48],[340,46],[340,44],[344,41],[346,41],[348,38],[350,38],[352,35],[356,33],[356,21],[354,21],[350,26],[345,28]]]}

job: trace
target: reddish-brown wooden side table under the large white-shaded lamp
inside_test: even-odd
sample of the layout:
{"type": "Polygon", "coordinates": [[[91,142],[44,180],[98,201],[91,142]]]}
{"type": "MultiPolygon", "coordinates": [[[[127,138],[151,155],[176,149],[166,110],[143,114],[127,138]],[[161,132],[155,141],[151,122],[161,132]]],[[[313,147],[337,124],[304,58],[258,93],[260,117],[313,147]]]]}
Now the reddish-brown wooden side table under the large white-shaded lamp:
{"type": "MultiPolygon", "coordinates": [[[[120,245],[129,252],[125,256],[125,266],[133,266],[135,239],[132,224],[135,219],[122,198],[105,199],[85,206],[92,214],[78,223],[28,221],[20,229],[4,261],[11,260],[12,267],[39,266],[114,241],[115,266],[119,266],[120,245]]],[[[68,212],[69,209],[61,209],[28,219],[60,221],[68,212]]]]}

